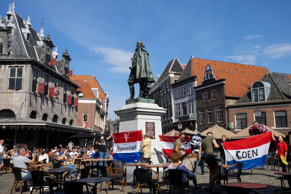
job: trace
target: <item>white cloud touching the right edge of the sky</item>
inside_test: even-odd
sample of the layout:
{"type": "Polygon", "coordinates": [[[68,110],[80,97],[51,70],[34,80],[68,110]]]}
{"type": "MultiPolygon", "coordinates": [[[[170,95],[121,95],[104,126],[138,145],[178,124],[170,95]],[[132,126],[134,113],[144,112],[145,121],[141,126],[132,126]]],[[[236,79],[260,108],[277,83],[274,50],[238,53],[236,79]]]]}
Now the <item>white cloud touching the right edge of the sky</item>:
{"type": "Polygon", "coordinates": [[[286,42],[270,45],[264,48],[261,54],[266,55],[271,59],[281,58],[285,55],[291,54],[291,44],[286,42]]]}

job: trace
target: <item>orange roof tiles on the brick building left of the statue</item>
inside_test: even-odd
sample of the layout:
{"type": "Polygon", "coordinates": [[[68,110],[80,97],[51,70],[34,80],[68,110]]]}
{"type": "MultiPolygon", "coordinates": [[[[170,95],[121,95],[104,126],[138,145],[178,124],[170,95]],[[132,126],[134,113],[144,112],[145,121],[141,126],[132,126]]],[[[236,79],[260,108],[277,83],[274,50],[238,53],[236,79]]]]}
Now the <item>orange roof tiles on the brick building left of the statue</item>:
{"type": "MultiPolygon", "coordinates": [[[[86,83],[89,85],[91,92],[92,92],[91,88],[98,88],[99,89],[99,99],[101,99],[102,101],[105,101],[105,93],[104,93],[103,89],[101,88],[100,84],[98,83],[98,81],[94,75],[72,75],[72,76],[69,76],[69,78],[75,83],[85,82],[85,79],[87,79],[86,83]]],[[[82,85],[80,85],[80,86],[82,87],[82,85]]],[[[80,91],[82,91],[82,88],[80,89],[80,91]]],[[[85,93],[84,93],[84,95],[85,95],[85,93]]],[[[94,95],[94,93],[93,93],[93,95],[94,95]]],[[[90,97],[85,97],[85,98],[90,98],[90,97]]]]}

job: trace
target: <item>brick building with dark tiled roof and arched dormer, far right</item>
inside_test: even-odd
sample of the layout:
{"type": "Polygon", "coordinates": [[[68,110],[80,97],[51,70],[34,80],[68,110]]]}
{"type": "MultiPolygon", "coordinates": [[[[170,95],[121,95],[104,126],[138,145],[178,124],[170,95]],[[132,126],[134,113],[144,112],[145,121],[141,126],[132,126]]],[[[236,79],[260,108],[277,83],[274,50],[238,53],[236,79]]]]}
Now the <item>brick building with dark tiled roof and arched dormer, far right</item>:
{"type": "MultiPolygon", "coordinates": [[[[244,129],[256,120],[254,110],[262,111],[259,123],[284,135],[291,131],[291,75],[269,72],[253,81],[249,90],[234,104],[228,105],[229,122],[244,129]],[[242,124],[243,123],[243,124],[242,124]],[[243,125],[243,127],[242,127],[243,125]]],[[[289,141],[290,142],[290,141],[289,141]]]]}

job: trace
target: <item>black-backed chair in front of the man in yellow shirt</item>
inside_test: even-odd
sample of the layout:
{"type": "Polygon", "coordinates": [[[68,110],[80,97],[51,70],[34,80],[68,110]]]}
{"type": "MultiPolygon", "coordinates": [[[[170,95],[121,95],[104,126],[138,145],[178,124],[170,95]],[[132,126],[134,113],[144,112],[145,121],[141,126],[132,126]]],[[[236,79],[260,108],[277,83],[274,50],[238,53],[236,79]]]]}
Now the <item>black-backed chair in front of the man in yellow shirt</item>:
{"type": "Polygon", "coordinates": [[[152,194],[156,193],[156,186],[155,186],[155,181],[152,179],[152,170],[151,169],[145,169],[145,168],[140,168],[140,169],[134,169],[133,174],[136,177],[136,183],[137,183],[137,191],[136,194],[139,193],[139,188],[140,188],[140,193],[142,194],[142,186],[147,186],[149,187],[149,192],[152,194]]]}

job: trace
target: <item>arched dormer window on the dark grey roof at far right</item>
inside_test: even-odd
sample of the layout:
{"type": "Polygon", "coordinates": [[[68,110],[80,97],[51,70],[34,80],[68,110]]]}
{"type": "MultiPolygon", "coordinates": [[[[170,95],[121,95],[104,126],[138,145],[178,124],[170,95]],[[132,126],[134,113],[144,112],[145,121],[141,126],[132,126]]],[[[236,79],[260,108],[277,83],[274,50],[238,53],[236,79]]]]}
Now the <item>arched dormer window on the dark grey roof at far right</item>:
{"type": "Polygon", "coordinates": [[[270,84],[268,82],[255,82],[252,85],[252,101],[261,102],[268,99],[270,84]]]}

